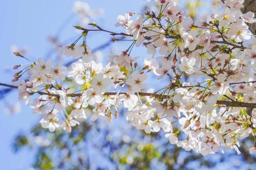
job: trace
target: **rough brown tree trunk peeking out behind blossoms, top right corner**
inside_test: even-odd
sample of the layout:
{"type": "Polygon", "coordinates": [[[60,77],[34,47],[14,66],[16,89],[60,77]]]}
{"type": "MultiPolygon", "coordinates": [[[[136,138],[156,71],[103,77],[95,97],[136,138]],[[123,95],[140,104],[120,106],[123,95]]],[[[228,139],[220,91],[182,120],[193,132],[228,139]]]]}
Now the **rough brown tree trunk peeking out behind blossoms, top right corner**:
{"type": "MultiPolygon", "coordinates": [[[[249,11],[256,14],[256,0],[244,0],[244,8],[241,8],[242,13],[247,13],[249,11]]],[[[256,23],[248,24],[250,30],[253,34],[256,34],[256,23]]]]}

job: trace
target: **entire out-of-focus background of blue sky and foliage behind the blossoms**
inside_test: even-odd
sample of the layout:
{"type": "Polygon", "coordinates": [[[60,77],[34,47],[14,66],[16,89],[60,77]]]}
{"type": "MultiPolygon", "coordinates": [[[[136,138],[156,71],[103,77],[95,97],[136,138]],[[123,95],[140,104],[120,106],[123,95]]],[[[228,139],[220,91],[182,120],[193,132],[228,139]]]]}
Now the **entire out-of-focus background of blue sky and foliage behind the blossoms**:
{"type": "MultiPolygon", "coordinates": [[[[82,0],[97,16],[90,16],[107,30],[114,27],[119,14],[154,8],[147,0],[82,0]]],[[[13,65],[26,61],[12,52],[36,61],[38,57],[67,64],[56,48],[68,45],[78,37],[72,27],[81,24],[73,10],[75,0],[8,0],[0,3],[0,82],[12,84],[13,65]]],[[[198,20],[214,10],[221,10],[220,0],[180,0],[180,6],[198,20]]],[[[88,45],[97,60],[107,63],[108,54],[118,54],[128,47],[125,42],[112,44],[111,36],[94,33],[88,45]]],[[[145,49],[134,49],[133,57],[150,57],[145,49]]],[[[26,75],[25,75],[26,77],[26,75]]],[[[151,81],[152,87],[159,82],[151,81]]],[[[168,80],[167,80],[168,82],[168,80]]],[[[71,134],[43,130],[40,116],[19,102],[17,91],[0,87],[0,169],[255,169],[255,156],[247,152],[250,139],[242,141],[241,155],[233,151],[202,157],[169,144],[164,133],[145,135],[129,126],[125,111],[111,124],[105,121],[84,122],[71,134]]]]}

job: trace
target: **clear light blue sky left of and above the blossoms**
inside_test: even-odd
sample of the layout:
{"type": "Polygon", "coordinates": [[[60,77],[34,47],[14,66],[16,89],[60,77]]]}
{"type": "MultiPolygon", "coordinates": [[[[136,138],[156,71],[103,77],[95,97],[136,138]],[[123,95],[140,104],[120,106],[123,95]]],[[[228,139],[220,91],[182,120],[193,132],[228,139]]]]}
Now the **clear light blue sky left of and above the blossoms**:
{"type": "MultiPolygon", "coordinates": [[[[12,83],[14,71],[6,72],[3,68],[12,68],[13,65],[25,62],[11,54],[11,45],[28,48],[28,57],[36,60],[44,56],[49,50],[47,37],[55,35],[61,24],[70,18],[62,31],[61,40],[76,36],[72,27],[78,23],[78,17],[73,14],[72,8],[75,0],[8,0],[2,1],[0,5],[0,82],[12,83]]],[[[118,14],[124,14],[126,10],[140,11],[143,1],[126,0],[120,4],[119,0],[93,1],[84,0],[92,9],[104,8],[105,16],[98,22],[104,28],[113,28],[118,14]],[[134,6],[136,3],[138,5],[134,6]],[[116,5],[118,4],[118,5],[116,5]]],[[[108,34],[102,34],[102,42],[109,40],[108,34]]],[[[91,38],[90,43],[98,46],[99,38],[91,38]]],[[[2,89],[2,87],[0,87],[2,89]]],[[[17,92],[12,92],[6,97],[6,102],[17,102],[17,92]]],[[[1,169],[28,169],[33,161],[31,150],[22,150],[13,153],[11,144],[15,134],[28,131],[38,122],[39,116],[34,115],[31,109],[22,103],[21,112],[15,115],[7,115],[3,112],[3,102],[0,102],[0,164],[1,169]]]]}

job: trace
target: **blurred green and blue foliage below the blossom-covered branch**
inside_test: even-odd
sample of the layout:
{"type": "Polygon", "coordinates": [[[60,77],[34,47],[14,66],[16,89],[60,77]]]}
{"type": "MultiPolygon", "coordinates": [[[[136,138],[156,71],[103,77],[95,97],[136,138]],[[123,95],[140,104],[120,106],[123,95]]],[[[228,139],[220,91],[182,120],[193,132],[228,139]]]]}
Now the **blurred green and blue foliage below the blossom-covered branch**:
{"type": "MultiPolygon", "coordinates": [[[[124,119],[120,116],[118,119],[124,119]]],[[[248,153],[248,143],[241,142],[241,155],[236,152],[201,156],[193,151],[169,144],[163,133],[145,134],[129,127],[128,123],[110,124],[82,122],[71,133],[62,130],[51,133],[40,125],[30,133],[19,133],[13,149],[23,147],[37,150],[32,167],[40,170],[53,169],[123,169],[123,170],[194,170],[194,169],[247,169],[256,166],[256,157],[248,153]],[[126,127],[126,128],[124,128],[126,127]]]]}

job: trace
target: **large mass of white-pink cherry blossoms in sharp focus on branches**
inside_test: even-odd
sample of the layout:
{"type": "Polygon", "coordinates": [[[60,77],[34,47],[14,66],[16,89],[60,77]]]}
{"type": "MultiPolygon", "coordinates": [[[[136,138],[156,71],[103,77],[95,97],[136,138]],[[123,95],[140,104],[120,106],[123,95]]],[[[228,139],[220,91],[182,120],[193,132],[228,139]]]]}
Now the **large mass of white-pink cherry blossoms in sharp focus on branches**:
{"type": "MultiPolygon", "coordinates": [[[[50,131],[70,132],[84,119],[111,122],[125,108],[132,126],[145,133],[163,129],[170,143],[184,150],[202,155],[223,149],[240,153],[239,139],[256,135],[256,46],[244,46],[253,37],[247,23],[256,22],[254,14],[239,11],[241,0],[226,0],[222,14],[195,22],[174,1],[157,3],[157,11],[119,15],[115,26],[126,33],[106,31],[96,23],[90,23],[95,29],[76,26],[83,31],[81,36],[59,48],[78,59],[71,70],[60,64],[52,67],[51,60],[39,58],[29,65],[30,78],[21,81],[19,98],[29,104],[30,97],[39,94],[31,107],[43,115],[40,123],[50,131]],[[78,43],[93,31],[125,36],[131,45],[119,55],[110,55],[103,66],[93,60],[95,54],[85,41],[78,43]],[[134,46],[146,48],[150,57],[143,64],[130,55],[134,46]],[[146,91],[149,74],[169,82],[146,91]]],[[[250,153],[255,148],[256,141],[250,153]]]]}

